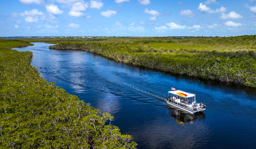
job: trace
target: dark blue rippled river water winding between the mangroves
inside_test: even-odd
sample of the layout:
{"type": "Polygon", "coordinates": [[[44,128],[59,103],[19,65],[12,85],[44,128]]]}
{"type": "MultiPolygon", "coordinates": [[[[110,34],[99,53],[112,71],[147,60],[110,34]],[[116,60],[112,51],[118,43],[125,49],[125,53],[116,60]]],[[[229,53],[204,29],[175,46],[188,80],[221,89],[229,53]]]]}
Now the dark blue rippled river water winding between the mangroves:
{"type": "Polygon", "coordinates": [[[256,90],[239,84],[172,75],[52,44],[14,48],[32,51],[32,63],[47,81],[114,116],[112,125],[130,134],[138,149],[254,148],[256,90]],[[189,114],[166,105],[171,87],[196,94],[206,105],[189,114]],[[254,147],[253,147],[254,146],[254,147]]]}

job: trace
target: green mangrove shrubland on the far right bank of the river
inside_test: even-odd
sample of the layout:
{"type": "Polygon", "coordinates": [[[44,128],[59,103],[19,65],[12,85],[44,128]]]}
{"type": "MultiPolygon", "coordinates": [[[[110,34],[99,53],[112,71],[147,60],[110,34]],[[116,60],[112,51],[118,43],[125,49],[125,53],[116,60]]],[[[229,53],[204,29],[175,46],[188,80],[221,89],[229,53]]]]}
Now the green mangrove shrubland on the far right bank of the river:
{"type": "Polygon", "coordinates": [[[256,36],[116,37],[58,42],[50,49],[78,49],[116,61],[204,79],[256,87],[256,36]]]}

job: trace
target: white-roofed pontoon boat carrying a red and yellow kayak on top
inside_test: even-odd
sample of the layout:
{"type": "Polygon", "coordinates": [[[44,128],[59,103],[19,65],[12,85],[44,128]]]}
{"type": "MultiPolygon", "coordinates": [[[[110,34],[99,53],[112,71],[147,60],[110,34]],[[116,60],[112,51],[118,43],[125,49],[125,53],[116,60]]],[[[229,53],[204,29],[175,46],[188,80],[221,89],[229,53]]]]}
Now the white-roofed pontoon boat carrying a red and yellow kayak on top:
{"type": "Polygon", "coordinates": [[[206,105],[197,103],[195,94],[180,90],[169,91],[166,97],[166,103],[189,113],[203,112],[206,110],[206,105]]]}

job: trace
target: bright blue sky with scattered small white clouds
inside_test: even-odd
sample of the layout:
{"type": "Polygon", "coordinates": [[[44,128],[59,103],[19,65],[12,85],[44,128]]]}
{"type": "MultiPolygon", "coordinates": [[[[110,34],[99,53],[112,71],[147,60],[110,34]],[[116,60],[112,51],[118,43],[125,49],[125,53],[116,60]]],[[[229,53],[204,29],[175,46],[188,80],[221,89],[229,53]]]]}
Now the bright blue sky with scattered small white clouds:
{"type": "Polygon", "coordinates": [[[240,36],[256,0],[0,0],[0,36],[240,36]]]}

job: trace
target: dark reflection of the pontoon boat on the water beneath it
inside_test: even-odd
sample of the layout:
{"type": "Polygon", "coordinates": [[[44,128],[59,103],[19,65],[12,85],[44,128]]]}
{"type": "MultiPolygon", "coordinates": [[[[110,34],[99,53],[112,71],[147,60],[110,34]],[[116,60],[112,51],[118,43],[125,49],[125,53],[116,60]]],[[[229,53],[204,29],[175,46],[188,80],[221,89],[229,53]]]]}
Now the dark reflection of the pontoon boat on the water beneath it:
{"type": "Polygon", "coordinates": [[[193,123],[195,121],[201,121],[206,118],[204,112],[187,113],[182,110],[178,110],[174,107],[167,105],[167,109],[170,110],[169,117],[175,118],[178,124],[193,123]]]}

